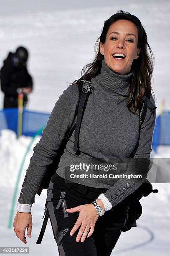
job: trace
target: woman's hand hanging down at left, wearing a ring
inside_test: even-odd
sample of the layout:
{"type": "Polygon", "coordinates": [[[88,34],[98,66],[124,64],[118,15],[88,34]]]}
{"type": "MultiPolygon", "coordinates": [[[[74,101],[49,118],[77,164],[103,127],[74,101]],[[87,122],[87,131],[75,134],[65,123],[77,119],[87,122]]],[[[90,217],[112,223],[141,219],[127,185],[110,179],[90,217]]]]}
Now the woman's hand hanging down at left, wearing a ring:
{"type": "Polygon", "coordinates": [[[32,215],[30,212],[25,213],[25,212],[17,212],[14,222],[13,222],[13,227],[15,228],[15,233],[18,238],[20,238],[23,243],[26,242],[26,237],[25,237],[25,230],[27,228],[27,236],[31,237],[31,229],[32,229],[32,215]]]}

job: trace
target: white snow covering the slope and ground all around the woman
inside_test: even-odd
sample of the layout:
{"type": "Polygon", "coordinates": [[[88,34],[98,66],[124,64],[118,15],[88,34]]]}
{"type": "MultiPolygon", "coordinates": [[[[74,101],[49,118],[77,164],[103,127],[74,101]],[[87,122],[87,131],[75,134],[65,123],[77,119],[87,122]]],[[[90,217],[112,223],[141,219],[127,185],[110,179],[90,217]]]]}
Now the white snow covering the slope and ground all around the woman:
{"type": "MultiPolygon", "coordinates": [[[[137,15],[147,31],[148,40],[155,55],[153,88],[156,97],[157,113],[161,101],[165,99],[170,110],[170,2],[169,0],[119,0],[112,4],[108,1],[1,1],[0,8],[0,59],[8,51],[24,45],[30,50],[29,70],[34,77],[35,89],[30,95],[28,108],[51,112],[59,95],[66,89],[68,82],[80,77],[81,69],[94,58],[94,44],[101,33],[104,20],[118,10],[127,10],[137,15]],[[83,2],[82,5],[80,2],[83,2]],[[106,4],[105,4],[106,2],[106,4]],[[39,3],[39,5],[38,5],[39,3]],[[110,6],[108,7],[108,5],[110,6]],[[25,8],[23,8],[25,6],[25,8]],[[46,104],[44,104],[46,102],[46,104]]],[[[0,92],[0,106],[3,94],[0,92]]],[[[3,130],[0,136],[0,246],[25,246],[8,229],[9,212],[19,167],[31,138],[20,137],[3,130]]],[[[23,183],[25,171],[33,154],[34,141],[26,158],[20,178],[23,183]]],[[[169,158],[170,148],[159,147],[158,154],[152,157],[169,158]]],[[[141,200],[143,214],[137,228],[122,233],[112,255],[123,256],[167,256],[170,253],[170,184],[153,184],[158,194],[151,194],[141,200]],[[136,247],[134,247],[136,246],[136,247]]],[[[18,198],[18,197],[17,197],[18,198]]],[[[46,191],[36,196],[33,204],[32,238],[27,238],[31,256],[58,255],[53,239],[51,225],[48,224],[41,245],[36,241],[42,225],[42,215],[46,191]]]]}

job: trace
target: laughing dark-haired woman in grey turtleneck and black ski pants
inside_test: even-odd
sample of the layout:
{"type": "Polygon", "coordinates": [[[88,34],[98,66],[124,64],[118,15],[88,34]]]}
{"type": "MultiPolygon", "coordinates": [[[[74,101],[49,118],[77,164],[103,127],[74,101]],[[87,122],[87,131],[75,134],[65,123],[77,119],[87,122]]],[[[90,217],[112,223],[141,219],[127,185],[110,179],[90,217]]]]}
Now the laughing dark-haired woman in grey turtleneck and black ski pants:
{"type": "MultiPolygon", "coordinates": [[[[145,29],[136,16],[119,11],[105,21],[98,40],[94,62],[85,67],[81,77],[91,81],[94,91],[81,123],[80,154],[73,150],[73,133],[47,191],[46,207],[53,235],[60,255],[66,256],[109,256],[126,223],[131,195],[143,182],[77,178],[74,184],[69,184],[65,179],[71,180],[70,172],[87,174],[80,163],[87,166],[95,160],[113,163],[113,159],[130,157],[149,159],[152,151],[155,111],[147,109],[140,128],[138,115],[144,93],[149,95],[152,90],[152,51],[145,29]]],[[[25,175],[14,219],[14,231],[23,243],[26,228],[28,237],[31,236],[31,204],[74,119],[79,99],[76,82],[56,102],[25,175]]],[[[152,95],[150,100],[155,105],[152,95]]],[[[126,166],[126,172],[132,173],[132,164],[120,166],[126,166]]],[[[117,168],[119,173],[120,169],[117,168]]],[[[143,165],[137,169],[145,172],[143,165]]],[[[100,170],[88,169],[88,173],[99,174],[100,170]]]]}

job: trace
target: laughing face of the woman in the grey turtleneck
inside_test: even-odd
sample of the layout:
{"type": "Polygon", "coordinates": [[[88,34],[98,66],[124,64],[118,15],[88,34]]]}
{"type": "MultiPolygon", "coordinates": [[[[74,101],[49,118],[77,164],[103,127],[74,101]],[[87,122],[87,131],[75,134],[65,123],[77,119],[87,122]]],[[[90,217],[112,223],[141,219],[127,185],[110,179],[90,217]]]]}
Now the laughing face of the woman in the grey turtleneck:
{"type": "Polygon", "coordinates": [[[129,20],[117,20],[109,27],[105,43],[100,43],[100,53],[110,69],[117,74],[128,74],[133,60],[140,54],[137,42],[136,25],[129,20]],[[125,58],[114,54],[123,54],[125,58]]]}

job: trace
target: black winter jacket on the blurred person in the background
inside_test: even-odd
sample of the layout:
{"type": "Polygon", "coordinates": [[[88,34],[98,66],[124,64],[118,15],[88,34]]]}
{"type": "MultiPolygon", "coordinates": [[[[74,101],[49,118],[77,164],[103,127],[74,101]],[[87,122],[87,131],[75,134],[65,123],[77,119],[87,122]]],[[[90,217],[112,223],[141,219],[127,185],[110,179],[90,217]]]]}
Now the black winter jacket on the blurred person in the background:
{"type": "MultiPolygon", "coordinates": [[[[4,108],[18,107],[18,88],[30,87],[33,89],[33,80],[28,74],[26,66],[15,66],[14,57],[15,55],[10,52],[0,70],[1,90],[5,93],[4,108]]],[[[24,94],[24,105],[27,100],[27,95],[24,94]]]]}

